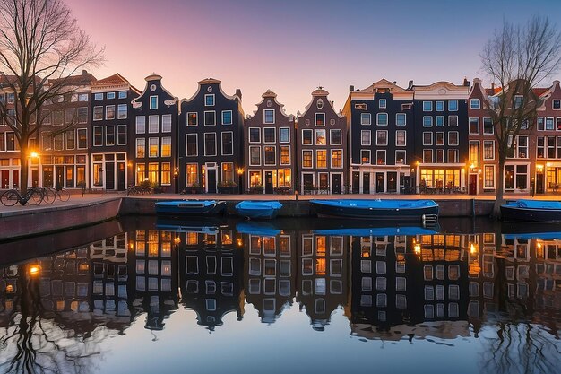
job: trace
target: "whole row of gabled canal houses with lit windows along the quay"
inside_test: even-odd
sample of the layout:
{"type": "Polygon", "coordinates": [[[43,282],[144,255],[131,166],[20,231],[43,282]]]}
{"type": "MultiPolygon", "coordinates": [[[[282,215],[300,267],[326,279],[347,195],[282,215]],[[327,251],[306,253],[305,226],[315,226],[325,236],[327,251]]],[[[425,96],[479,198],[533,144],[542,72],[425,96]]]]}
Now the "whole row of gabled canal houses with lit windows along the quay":
{"type": "MultiPolygon", "coordinates": [[[[300,193],[332,194],[498,188],[496,138],[484,109],[504,91],[479,79],[350,86],[339,111],[320,87],[296,116],[269,90],[246,116],[241,91],[229,95],[211,78],[184,100],[156,74],[143,91],[120,74],[97,80],[83,71],[69,83],[71,93],[46,105],[41,133],[30,139],[39,153],[30,157],[30,185],[122,191],[148,181],[167,192],[264,194],[297,185],[300,193]]],[[[14,95],[5,87],[0,100],[9,113],[14,95]]],[[[533,92],[539,117],[513,141],[506,192],[557,192],[561,184],[559,82],[533,92]]],[[[0,122],[1,187],[17,186],[19,175],[15,135],[0,122]]]]}

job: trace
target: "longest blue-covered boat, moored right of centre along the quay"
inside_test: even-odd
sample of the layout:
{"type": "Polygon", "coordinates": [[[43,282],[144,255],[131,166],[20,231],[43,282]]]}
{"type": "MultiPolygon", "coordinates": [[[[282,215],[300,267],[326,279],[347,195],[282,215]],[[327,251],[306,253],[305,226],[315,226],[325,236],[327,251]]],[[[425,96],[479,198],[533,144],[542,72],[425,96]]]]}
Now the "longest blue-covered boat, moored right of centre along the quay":
{"type": "Polygon", "coordinates": [[[364,199],[310,200],[320,217],[362,218],[367,220],[431,221],[438,218],[433,200],[364,199]]]}

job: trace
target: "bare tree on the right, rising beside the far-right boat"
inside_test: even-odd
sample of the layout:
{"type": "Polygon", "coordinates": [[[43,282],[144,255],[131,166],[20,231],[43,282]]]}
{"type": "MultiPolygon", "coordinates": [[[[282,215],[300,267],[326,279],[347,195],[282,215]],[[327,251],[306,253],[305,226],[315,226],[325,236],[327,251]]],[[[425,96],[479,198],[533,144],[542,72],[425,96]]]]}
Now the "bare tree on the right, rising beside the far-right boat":
{"type": "Polygon", "coordinates": [[[483,71],[502,89],[485,105],[495,127],[498,152],[495,217],[500,216],[504,200],[506,158],[514,154],[516,136],[535,124],[539,97],[533,89],[557,72],[560,48],[557,26],[547,17],[534,16],[525,25],[503,22],[480,55],[483,71]]]}

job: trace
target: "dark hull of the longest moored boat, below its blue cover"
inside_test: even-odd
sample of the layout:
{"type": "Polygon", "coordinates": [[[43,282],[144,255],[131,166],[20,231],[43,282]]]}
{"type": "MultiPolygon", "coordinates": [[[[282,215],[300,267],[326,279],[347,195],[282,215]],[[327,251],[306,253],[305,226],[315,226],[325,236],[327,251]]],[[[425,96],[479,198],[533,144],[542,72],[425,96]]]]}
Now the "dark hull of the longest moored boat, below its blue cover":
{"type": "MultiPolygon", "coordinates": [[[[320,217],[344,217],[357,218],[367,220],[389,220],[389,221],[409,221],[417,222],[423,219],[423,216],[438,215],[438,205],[431,204],[427,206],[367,206],[367,204],[359,206],[351,206],[350,204],[324,204],[320,201],[310,201],[320,217]]],[[[378,201],[376,201],[378,203],[378,201]]]]}

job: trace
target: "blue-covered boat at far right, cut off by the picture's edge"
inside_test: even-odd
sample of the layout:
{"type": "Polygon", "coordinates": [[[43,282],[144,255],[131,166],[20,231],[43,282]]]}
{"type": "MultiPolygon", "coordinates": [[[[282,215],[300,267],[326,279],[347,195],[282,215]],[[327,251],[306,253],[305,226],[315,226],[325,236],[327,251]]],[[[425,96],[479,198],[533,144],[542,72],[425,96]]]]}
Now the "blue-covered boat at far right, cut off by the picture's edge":
{"type": "Polygon", "coordinates": [[[561,202],[515,200],[501,205],[503,221],[561,222],[561,202]]]}

